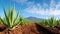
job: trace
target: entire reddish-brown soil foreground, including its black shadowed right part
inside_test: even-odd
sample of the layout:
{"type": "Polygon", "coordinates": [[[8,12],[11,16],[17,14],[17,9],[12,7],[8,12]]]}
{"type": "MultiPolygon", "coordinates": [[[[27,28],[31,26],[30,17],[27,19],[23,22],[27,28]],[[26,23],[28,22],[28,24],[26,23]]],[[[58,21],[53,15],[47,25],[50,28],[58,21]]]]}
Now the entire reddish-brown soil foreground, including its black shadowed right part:
{"type": "Polygon", "coordinates": [[[60,34],[58,30],[51,27],[43,27],[36,23],[17,26],[14,30],[9,31],[7,28],[0,32],[0,34],[60,34]]]}

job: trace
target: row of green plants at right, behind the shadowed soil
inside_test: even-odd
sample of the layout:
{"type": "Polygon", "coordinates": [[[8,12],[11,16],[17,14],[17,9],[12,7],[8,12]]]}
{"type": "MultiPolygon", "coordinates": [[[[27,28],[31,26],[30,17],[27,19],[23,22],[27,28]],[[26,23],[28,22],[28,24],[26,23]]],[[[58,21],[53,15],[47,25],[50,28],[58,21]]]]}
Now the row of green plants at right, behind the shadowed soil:
{"type": "Polygon", "coordinates": [[[56,20],[54,17],[51,17],[46,20],[41,20],[39,24],[44,26],[55,27],[56,25],[60,25],[60,20],[56,20]]]}

